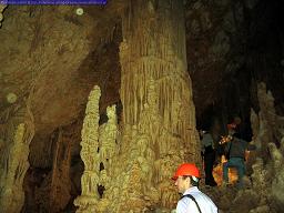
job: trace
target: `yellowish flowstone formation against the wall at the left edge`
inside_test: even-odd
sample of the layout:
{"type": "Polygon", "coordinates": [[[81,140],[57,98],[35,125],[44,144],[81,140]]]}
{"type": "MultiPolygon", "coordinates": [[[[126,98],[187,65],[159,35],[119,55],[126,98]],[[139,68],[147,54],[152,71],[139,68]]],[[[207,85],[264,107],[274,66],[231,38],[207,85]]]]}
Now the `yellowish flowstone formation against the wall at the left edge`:
{"type": "Polygon", "coordinates": [[[34,135],[29,106],[12,113],[8,110],[0,116],[4,122],[0,126],[0,212],[20,212],[22,209],[23,178],[29,169],[29,144],[34,135]]]}

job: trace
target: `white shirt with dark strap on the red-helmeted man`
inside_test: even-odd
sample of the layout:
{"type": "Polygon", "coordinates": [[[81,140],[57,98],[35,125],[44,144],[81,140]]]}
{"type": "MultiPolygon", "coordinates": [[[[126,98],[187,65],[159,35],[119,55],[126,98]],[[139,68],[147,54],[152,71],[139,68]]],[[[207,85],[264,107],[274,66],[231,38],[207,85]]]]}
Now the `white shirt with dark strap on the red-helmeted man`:
{"type": "MultiPolygon", "coordinates": [[[[213,201],[196,186],[187,189],[183,195],[191,194],[197,202],[202,213],[217,213],[217,207],[213,201]]],[[[194,201],[190,197],[183,197],[179,201],[176,213],[200,213],[194,201]]]]}

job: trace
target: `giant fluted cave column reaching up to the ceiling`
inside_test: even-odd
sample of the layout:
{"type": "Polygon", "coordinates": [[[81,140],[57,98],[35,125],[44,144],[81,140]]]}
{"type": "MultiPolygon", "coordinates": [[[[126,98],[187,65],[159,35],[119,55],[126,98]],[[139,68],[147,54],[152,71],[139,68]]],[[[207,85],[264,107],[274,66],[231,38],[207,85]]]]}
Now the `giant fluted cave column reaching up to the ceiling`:
{"type": "Polygon", "coordinates": [[[131,1],[122,16],[121,132],[111,143],[118,154],[102,152],[105,190],[98,212],[172,209],[174,170],[200,163],[183,20],[180,0],[131,1]]]}

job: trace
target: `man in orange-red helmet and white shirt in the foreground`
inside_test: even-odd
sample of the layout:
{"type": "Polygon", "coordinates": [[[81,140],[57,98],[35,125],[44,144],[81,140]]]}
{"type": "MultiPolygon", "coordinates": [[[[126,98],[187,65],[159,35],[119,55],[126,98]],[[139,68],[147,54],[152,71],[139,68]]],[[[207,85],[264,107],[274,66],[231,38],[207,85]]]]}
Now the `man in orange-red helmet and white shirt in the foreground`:
{"type": "Polygon", "coordinates": [[[217,213],[213,201],[199,190],[200,171],[195,164],[181,164],[172,179],[182,194],[176,213],[217,213]]]}

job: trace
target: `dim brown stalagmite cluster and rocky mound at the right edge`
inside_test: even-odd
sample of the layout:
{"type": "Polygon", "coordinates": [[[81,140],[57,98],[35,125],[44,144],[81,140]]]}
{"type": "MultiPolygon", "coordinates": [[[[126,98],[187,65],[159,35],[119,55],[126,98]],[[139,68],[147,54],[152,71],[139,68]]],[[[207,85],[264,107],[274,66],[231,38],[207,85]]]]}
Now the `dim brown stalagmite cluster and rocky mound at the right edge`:
{"type": "Polygon", "coordinates": [[[222,212],[278,213],[284,206],[284,118],[275,113],[274,99],[264,83],[257,90],[260,112],[251,111],[253,141],[257,146],[246,162],[245,187],[210,190],[222,212]],[[277,140],[281,139],[281,140],[277,140]]]}

